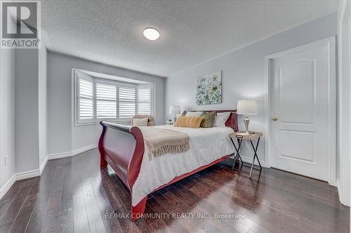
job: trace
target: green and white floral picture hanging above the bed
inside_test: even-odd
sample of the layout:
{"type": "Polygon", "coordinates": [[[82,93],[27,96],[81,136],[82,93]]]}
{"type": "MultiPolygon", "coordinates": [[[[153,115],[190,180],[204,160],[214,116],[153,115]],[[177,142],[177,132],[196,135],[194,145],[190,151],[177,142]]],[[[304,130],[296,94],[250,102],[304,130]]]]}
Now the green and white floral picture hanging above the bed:
{"type": "Polygon", "coordinates": [[[197,105],[213,105],[222,102],[222,77],[220,72],[197,78],[197,105]]]}

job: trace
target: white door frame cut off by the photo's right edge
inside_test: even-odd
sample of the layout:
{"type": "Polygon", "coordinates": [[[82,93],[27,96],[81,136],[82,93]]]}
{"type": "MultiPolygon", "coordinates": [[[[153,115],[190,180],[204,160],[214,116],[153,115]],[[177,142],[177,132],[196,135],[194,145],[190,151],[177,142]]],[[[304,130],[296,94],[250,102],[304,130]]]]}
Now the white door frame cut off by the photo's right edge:
{"type": "Polygon", "coordinates": [[[340,155],[339,178],[336,180],[340,202],[350,206],[350,138],[351,138],[351,4],[340,1],[338,9],[338,150],[340,155]],[[346,67],[346,68],[345,68],[346,67]],[[343,131],[343,128],[349,130],[343,131]]]}

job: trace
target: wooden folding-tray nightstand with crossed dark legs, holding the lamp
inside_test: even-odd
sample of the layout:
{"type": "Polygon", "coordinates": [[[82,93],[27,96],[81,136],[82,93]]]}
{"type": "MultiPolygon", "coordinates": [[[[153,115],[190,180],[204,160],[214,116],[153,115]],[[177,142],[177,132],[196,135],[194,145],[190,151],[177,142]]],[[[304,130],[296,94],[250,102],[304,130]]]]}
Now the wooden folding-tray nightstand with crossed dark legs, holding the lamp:
{"type": "MultiPolygon", "coordinates": [[[[241,159],[240,154],[239,154],[239,150],[240,150],[240,147],[241,147],[242,140],[249,140],[250,143],[251,143],[253,152],[255,154],[253,155],[253,161],[252,161],[252,164],[251,164],[251,170],[250,170],[249,178],[251,178],[253,165],[255,164],[255,159],[257,159],[257,161],[258,161],[258,165],[260,166],[260,171],[262,170],[262,166],[260,164],[260,160],[258,159],[258,156],[257,156],[257,148],[258,148],[258,144],[260,143],[260,138],[262,136],[263,136],[263,133],[261,133],[261,132],[249,132],[249,134],[245,134],[244,132],[234,132],[234,133],[230,133],[229,134],[230,140],[232,140],[232,143],[234,145],[235,151],[237,152],[237,154],[235,155],[235,158],[234,158],[234,164],[235,164],[235,161],[237,161],[237,157],[239,157],[239,159],[240,159],[240,161],[242,163],[242,159],[241,159]],[[237,139],[238,147],[237,147],[237,145],[235,145],[233,138],[237,139]],[[252,142],[252,140],[255,140],[255,139],[257,139],[256,147],[253,145],[253,142],[252,142]]],[[[234,164],[233,164],[232,169],[234,168],[234,164]]]]}

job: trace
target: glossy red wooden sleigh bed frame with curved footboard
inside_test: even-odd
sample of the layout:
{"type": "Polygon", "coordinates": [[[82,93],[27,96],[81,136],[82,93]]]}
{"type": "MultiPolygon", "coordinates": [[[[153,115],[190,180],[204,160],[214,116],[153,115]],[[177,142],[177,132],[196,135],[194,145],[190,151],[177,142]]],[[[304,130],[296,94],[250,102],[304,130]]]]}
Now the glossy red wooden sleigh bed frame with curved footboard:
{"type": "MultiPolygon", "coordinates": [[[[213,110],[204,112],[231,112],[229,118],[225,122],[225,126],[231,127],[234,131],[238,131],[237,110],[213,110]]],[[[105,168],[110,164],[115,173],[124,182],[124,185],[132,192],[135,180],[140,172],[141,162],[144,154],[143,134],[138,127],[124,126],[106,121],[100,121],[102,125],[102,133],[99,140],[100,151],[100,167],[105,168]]],[[[165,185],[154,189],[157,191],[173,182],[177,182],[189,175],[197,173],[213,164],[218,164],[232,154],[217,159],[211,164],[201,166],[194,171],[180,175],[165,185]]],[[[152,191],[152,192],[154,192],[152,191]]],[[[134,221],[142,216],[145,211],[147,196],[143,198],[136,206],[131,206],[131,220],[134,221]]]]}

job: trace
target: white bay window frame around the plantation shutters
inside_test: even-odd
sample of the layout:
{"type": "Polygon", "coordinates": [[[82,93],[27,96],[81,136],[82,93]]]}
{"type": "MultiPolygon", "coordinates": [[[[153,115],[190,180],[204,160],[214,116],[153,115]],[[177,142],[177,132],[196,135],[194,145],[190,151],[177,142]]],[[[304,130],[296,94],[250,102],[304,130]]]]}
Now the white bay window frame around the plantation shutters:
{"type": "Polygon", "coordinates": [[[90,76],[88,74],[85,74],[79,69],[72,69],[72,86],[73,86],[73,96],[72,99],[74,101],[74,126],[84,126],[84,125],[90,125],[90,124],[99,124],[100,121],[110,121],[114,122],[117,124],[131,124],[131,119],[132,117],[128,118],[119,118],[119,86],[125,86],[125,87],[133,87],[135,88],[135,114],[138,114],[138,88],[145,88],[145,86],[150,87],[150,104],[151,104],[151,115],[154,115],[154,88],[155,84],[134,84],[134,83],[128,83],[125,81],[116,81],[116,80],[111,80],[111,79],[102,79],[102,78],[97,78],[90,76]],[[83,79],[86,79],[88,81],[91,81],[93,83],[93,119],[79,119],[79,79],[81,76],[83,76],[83,79]],[[116,106],[116,114],[117,118],[97,118],[97,106],[96,106],[96,84],[108,84],[108,85],[114,85],[116,86],[116,98],[117,98],[117,106],[116,106]]]}

